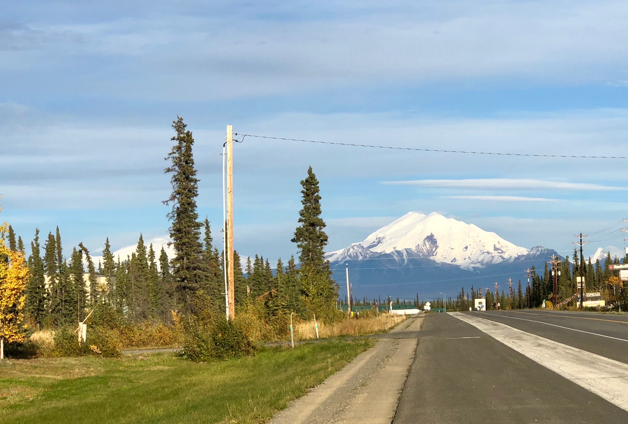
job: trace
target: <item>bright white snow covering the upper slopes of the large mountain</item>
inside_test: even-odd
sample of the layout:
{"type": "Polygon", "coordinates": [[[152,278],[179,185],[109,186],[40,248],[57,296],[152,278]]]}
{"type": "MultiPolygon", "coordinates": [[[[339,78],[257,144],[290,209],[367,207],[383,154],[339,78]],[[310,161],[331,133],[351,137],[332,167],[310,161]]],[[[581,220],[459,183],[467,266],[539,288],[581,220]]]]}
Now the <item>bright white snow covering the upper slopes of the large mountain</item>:
{"type": "Polygon", "coordinates": [[[395,250],[410,250],[435,262],[472,269],[527,255],[529,250],[495,233],[438,213],[409,212],[372,233],[364,241],[330,252],[330,262],[371,258],[395,250]]]}

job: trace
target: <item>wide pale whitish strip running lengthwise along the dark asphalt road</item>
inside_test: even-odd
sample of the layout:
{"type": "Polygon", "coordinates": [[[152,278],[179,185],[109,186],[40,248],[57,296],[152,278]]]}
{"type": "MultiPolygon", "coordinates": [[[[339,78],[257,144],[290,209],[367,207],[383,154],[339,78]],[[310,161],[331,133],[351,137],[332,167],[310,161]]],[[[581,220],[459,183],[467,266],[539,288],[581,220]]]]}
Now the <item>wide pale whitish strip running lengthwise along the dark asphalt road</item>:
{"type": "Polygon", "coordinates": [[[628,411],[628,364],[536,336],[501,322],[460,312],[450,314],[541,366],[628,411]],[[612,378],[612,383],[609,383],[609,378],[612,378]]]}

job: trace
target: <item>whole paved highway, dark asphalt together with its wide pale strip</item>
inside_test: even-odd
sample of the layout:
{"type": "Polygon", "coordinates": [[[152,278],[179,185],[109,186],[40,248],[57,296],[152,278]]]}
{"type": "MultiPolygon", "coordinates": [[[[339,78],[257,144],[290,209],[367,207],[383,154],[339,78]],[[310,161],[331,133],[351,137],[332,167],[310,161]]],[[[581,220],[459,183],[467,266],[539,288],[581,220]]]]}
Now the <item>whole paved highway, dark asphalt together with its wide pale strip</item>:
{"type": "Polygon", "coordinates": [[[426,315],[395,424],[628,423],[628,317],[426,315]]]}

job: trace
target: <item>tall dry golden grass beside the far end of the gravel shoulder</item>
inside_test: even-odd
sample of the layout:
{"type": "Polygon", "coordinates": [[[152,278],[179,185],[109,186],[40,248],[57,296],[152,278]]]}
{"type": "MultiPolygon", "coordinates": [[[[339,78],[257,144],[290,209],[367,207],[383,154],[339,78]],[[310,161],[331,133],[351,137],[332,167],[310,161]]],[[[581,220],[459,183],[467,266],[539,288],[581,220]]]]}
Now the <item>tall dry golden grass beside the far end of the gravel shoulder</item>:
{"type": "MultiPolygon", "coordinates": [[[[318,322],[318,336],[322,339],[338,336],[365,336],[386,331],[399,324],[399,322],[405,321],[405,319],[405,315],[381,314],[379,317],[347,318],[330,325],[318,322]]],[[[295,324],[295,339],[316,339],[314,321],[303,321],[295,324]]]]}

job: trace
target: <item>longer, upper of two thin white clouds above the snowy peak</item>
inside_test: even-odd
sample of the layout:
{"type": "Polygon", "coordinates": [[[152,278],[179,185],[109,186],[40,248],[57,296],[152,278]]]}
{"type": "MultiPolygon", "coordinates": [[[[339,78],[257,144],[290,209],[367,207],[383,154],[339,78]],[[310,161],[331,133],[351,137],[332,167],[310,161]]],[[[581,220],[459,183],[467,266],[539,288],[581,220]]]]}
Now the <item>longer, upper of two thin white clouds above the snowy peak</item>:
{"type": "MultiPolygon", "coordinates": [[[[580,190],[615,191],[626,187],[604,186],[592,183],[565,183],[525,178],[470,178],[470,179],[418,179],[412,181],[384,181],[383,184],[464,189],[515,189],[515,190],[580,190]]],[[[463,198],[463,197],[458,197],[463,198]]],[[[468,197],[467,197],[468,198],[468,197]]]]}

